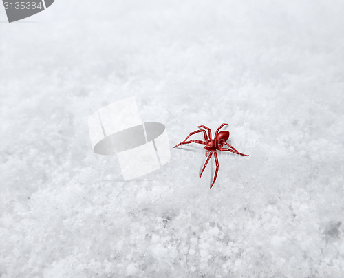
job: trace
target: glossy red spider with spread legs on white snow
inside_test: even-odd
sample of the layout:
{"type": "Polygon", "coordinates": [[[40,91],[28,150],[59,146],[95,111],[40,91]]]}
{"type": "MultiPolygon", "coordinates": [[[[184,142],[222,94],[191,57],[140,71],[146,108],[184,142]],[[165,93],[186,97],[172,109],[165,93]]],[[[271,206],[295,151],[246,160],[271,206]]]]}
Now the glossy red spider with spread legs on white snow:
{"type": "Polygon", "coordinates": [[[202,145],[206,145],[206,147],[204,147],[204,149],[207,150],[206,152],[206,156],[208,156],[208,153],[210,152],[211,154],[208,156],[208,159],[206,160],[206,163],[204,163],[204,167],[202,169],[202,172],[200,174],[200,178],[202,177],[202,173],[204,171],[204,169],[206,168],[206,164],[208,164],[208,161],[211,158],[211,155],[214,153],[214,157],[215,157],[215,163],[216,163],[216,171],[215,171],[215,175],[214,175],[214,180],[213,183],[211,184],[211,188],[213,187],[215,181],[216,181],[216,177],[217,177],[217,172],[219,171],[219,160],[217,160],[217,150],[218,151],[230,151],[231,153],[236,153],[239,154],[240,156],[248,156],[248,154],[244,154],[244,153],[239,153],[239,151],[237,151],[236,149],[234,149],[233,146],[229,145],[228,143],[226,143],[226,141],[229,138],[229,131],[220,131],[220,129],[222,129],[222,127],[224,125],[228,125],[228,124],[222,124],[215,132],[215,136],[214,139],[211,139],[211,129],[209,129],[208,127],[206,127],[205,125],[200,125],[198,126],[198,128],[203,127],[204,129],[208,130],[208,134],[209,134],[209,140],[208,140],[208,136],[206,136],[206,131],[204,129],[200,129],[197,131],[193,131],[189,134],[188,137],[185,138],[185,140],[181,143],[179,143],[178,145],[175,145],[173,148],[178,147],[179,145],[184,145],[184,144],[190,144],[190,143],[197,143],[197,144],[202,144],[202,145]],[[204,139],[206,140],[206,142],[204,141],[200,141],[200,140],[191,140],[191,141],[186,141],[187,138],[189,138],[191,135],[195,134],[195,133],[199,133],[199,132],[203,132],[204,133],[204,139]],[[227,149],[227,148],[222,148],[223,145],[226,145],[228,147],[230,147],[231,149],[227,149]]]}

